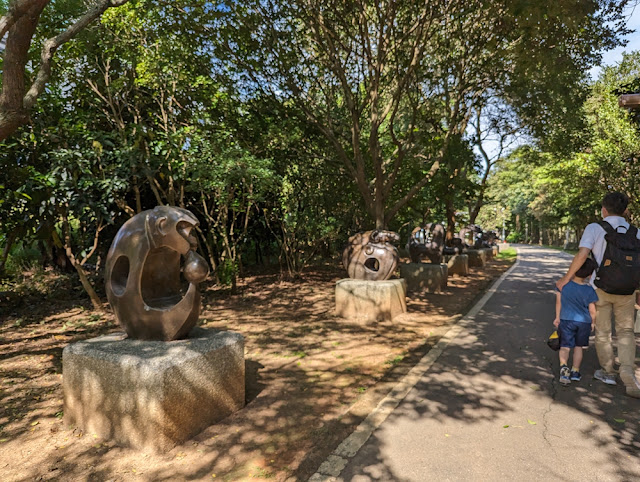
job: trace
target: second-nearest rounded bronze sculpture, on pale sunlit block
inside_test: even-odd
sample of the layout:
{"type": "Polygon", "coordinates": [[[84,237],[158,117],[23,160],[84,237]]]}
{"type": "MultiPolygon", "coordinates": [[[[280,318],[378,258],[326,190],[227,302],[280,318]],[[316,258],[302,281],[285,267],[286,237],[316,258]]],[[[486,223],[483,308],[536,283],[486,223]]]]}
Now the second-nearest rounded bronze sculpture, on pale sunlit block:
{"type": "Polygon", "coordinates": [[[398,266],[398,250],[391,244],[400,241],[393,231],[374,230],[354,234],[342,253],[349,278],[382,281],[391,278],[398,266]]]}

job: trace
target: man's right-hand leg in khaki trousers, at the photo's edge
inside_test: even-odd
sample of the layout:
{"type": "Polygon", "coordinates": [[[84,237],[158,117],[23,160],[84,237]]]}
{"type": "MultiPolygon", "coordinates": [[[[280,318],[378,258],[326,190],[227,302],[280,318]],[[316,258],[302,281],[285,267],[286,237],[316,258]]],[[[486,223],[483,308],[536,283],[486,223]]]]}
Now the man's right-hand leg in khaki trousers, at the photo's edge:
{"type": "Polygon", "coordinates": [[[625,384],[625,387],[627,387],[627,393],[629,395],[640,396],[640,384],[635,377],[636,337],[633,332],[634,303],[634,295],[615,296],[613,314],[616,322],[620,379],[625,384]],[[632,394],[629,390],[637,393],[632,394]]]}

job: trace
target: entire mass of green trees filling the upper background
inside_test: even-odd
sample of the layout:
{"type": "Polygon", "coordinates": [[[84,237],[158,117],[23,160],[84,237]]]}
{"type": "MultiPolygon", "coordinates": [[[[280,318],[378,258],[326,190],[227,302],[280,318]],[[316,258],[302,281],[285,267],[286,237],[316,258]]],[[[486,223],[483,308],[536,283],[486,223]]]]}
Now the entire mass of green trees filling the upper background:
{"type": "Polygon", "coordinates": [[[579,229],[637,182],[638,54],[588,78],[633,3],[0,2],[0,270],[36,246],[97,305],[118,227],[159,204],[231,286],[373,227],[579,229]]]}

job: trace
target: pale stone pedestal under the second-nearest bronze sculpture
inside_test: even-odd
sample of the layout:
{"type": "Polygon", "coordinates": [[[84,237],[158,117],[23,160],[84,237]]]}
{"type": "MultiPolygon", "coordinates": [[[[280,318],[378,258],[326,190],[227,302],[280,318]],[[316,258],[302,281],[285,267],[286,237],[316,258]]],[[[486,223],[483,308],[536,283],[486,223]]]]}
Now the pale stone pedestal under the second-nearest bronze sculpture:
{"type": "Polygon", "coordinates": [[[357,322],[390,321],[406,313],[407,283],[404,279],[336,282],[336,315],[357,322]]]}

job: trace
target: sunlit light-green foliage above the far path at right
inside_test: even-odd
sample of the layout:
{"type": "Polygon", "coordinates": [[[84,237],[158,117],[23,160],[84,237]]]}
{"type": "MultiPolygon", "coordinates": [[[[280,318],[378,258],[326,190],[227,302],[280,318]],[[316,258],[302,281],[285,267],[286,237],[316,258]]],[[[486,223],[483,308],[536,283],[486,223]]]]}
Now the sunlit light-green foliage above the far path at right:
{"type": "MultiPolygon", "coordinates": [[[[626,192],[631,220],[638,222],[640,124],[618,106],[621,89],[640,78],[640,52],[626,54],[603,70],[584,102],[585,127],[576,136],[582,148],[521,148],[498,166],[489,192],[521,223],[568,227],[580,233],[599,216],[602,197],[626,192]]],[[[515,219],[510,223],[515,224],[515,219]]],[[[522,227],[509,239],[523,239],[522,227]]]]}

